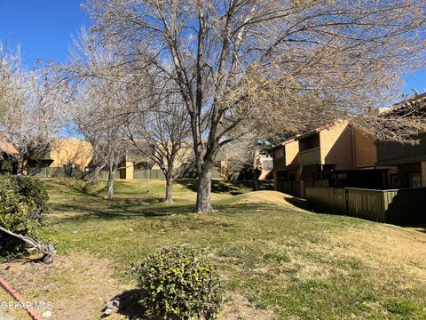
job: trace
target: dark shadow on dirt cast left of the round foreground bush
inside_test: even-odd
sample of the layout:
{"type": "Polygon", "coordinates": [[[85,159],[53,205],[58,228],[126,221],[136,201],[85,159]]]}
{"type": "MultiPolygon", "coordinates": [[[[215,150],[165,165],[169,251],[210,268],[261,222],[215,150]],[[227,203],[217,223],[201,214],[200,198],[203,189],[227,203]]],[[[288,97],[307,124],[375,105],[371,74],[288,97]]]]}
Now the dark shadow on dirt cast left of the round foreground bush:
{"type": "MultiPolygon", "coordinates": [[[[138,289],[132,289],[116,295],[112,300],[118,300],[119,306],[117,314],[126,316],[130,320],[147,320],[144,316],[144,308],[140,306],[140,292],[138,289]]],[[[106,316],[104,316],[106,317],[106,316]]]]}

